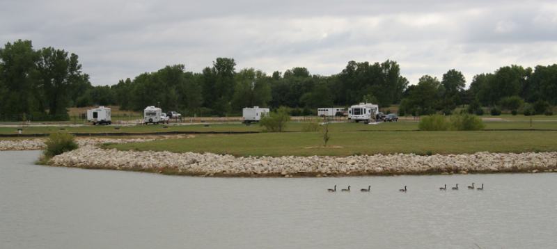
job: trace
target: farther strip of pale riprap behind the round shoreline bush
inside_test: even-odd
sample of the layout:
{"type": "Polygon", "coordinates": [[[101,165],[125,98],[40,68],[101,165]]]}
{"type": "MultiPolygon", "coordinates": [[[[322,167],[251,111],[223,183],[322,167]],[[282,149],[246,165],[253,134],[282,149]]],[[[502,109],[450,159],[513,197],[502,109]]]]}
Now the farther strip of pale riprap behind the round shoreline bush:
{"type": "MultiPolygon", "coordinates": [[[[76,143],[79,147],[86,145],[102,145],[103,143],[140,143],[148,142],[157,139],[76,139],[76,143]]],[[[34,139],[34,140],[0,140],[0,151],[1,150],[45,150],[45,139],[34,139]]]]}

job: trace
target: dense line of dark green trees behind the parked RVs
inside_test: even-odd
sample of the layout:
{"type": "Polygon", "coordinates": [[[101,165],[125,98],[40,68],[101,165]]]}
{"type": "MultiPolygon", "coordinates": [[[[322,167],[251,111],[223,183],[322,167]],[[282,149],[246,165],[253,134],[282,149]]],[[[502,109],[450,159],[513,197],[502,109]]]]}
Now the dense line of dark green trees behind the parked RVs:
{"type": "Polygon", "coordinates": [[[253,67],[237,70],[234,58],[217,58],[201,72],[168,65],[112,86],[92,86],[77,59],[52,47],[35,50],[29,40],[8,42],[0,48],[0,101],[5,106],[0,115],[27,113],[34,120],[68,120],[69,107],[98,105],[132,111],[160,106],[182,115],[219,116],[241,115],[248,106],[286,106],[292,115],[308,115],[318,107],[359,102],[382,108],[400,104],[400,114],[425,115],[450,113],[461,104],[508,109],[524,102],[557,104],[556,64],[500,67],[476,74],[466,89],[464,75],[455,69],[441,79],[424,75],[410,85],[400,74],[400,65],[390,60],[350,61],[342,72],[322,76],[306,67],[270,75],[253,67]]]}

